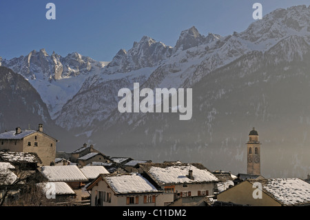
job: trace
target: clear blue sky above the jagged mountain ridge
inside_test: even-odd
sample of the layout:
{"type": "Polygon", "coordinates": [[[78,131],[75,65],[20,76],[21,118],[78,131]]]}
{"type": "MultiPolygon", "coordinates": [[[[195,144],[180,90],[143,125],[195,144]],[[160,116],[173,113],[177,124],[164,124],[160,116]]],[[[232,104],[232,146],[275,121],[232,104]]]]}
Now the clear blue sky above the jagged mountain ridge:
{"type": "Polygon", "coordinates": [[[241,32],[254,22],[254,3],[265,15],[276,8],[307,5],[309,0],[1,0],[0,57],[11,59],[45,48],[61,56],[71,52],[111,61],[144,35],[175,46],[182,30],[201,34],[241,32]],[[45,18],[47,3],[56,20],[45,18]]]}

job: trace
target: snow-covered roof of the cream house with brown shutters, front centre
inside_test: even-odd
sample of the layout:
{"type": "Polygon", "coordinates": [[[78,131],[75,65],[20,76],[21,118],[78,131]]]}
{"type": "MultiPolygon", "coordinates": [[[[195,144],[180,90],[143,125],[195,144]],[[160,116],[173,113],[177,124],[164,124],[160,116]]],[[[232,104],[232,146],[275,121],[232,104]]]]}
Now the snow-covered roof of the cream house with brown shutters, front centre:
{"type": "Polygon", "coordinates": [[[152,183],[149,183],[141,174],[118,174],[103,178],[116,194],[158,192],[152,183]]]}

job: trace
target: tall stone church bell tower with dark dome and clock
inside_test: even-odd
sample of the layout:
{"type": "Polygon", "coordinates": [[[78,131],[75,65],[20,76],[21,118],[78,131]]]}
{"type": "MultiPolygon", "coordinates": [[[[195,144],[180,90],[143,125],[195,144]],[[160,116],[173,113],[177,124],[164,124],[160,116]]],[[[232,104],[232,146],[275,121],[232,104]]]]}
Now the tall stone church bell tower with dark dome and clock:
{"type": "Polygon", "coordinates": [[[247,141],[247,174],[260,175],[260,144],[258,132],[253,128],[247,141]]]}

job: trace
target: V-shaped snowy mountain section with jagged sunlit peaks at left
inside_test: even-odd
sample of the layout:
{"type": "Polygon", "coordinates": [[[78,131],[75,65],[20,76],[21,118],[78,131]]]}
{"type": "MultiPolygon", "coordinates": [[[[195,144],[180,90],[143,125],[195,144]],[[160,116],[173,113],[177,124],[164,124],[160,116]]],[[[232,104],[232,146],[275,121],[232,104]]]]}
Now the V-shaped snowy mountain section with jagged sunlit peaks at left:
{"type": "Polygon", "coordinates": [[[107,63],[83,57],[77,52],[61,57],[55,52],[49,55],[41,49],[32,50],[27,56],[1,59],[0,65],[28,79],[54,119],[63,105],[79,91],[86,77],[99,72],[107,63]]]}

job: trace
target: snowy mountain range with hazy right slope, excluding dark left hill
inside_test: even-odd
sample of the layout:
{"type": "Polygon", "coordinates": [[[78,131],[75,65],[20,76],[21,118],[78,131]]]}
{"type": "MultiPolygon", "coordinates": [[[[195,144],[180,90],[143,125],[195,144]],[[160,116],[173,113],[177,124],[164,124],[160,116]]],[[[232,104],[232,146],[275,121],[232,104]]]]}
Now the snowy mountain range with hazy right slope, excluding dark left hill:
{"type": "Polygon", "coordinates": [[[193,26],[180,33],[174,47],[144,36],[110,62],[76,52],[49,55],[42,49],[0,58],[0,64],[40,94],[48,112],[36,112],[51,121],[46,123],[53,124],[52,130],[63,130],[60,150],[89,142],[107,155],[196,161],[238,173],[246,172],[245,143],[256,127],[262,176],[307,177],[309,23],[310,7],[293,6],[228,36],[205,36],[193,26]],[[132,89],[134,82],[141,89],[192,88],[192,119],[179,121],[172,113],[121,114],[118,90],[132,89]]]}

